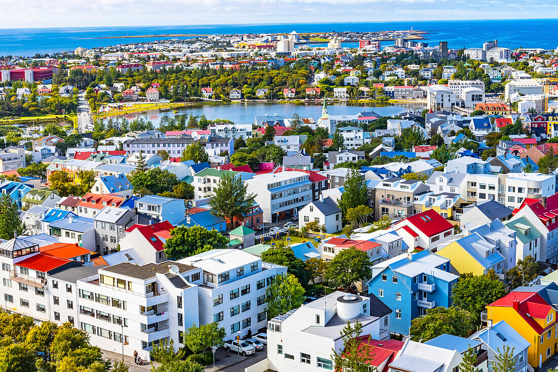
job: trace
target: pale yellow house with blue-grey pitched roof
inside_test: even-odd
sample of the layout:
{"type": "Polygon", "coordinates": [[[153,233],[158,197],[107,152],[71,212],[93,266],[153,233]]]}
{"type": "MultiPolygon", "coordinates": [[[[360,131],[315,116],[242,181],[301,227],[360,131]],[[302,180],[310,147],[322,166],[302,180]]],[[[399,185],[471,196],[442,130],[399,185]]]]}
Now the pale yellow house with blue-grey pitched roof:
{"type": "Polygon", "coordinates": [[[450,260],[451,272],[454,274],[473,273],[482,275],[490,269],[502,274],[506,259],[496,245],[485,240],[478,232],[462,237],[436,251],[450,260]]]}

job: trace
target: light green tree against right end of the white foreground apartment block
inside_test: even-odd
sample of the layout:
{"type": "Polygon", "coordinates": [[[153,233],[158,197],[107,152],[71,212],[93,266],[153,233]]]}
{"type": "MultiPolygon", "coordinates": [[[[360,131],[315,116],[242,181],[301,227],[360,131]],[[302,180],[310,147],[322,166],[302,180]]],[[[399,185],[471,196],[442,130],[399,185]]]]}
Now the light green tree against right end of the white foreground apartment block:
{"type": "Polygon", "coordinates": [[[275,318],[304,303],[304,288],[292,274],[278,274],[266,288],[267,317],[275,318]]]}

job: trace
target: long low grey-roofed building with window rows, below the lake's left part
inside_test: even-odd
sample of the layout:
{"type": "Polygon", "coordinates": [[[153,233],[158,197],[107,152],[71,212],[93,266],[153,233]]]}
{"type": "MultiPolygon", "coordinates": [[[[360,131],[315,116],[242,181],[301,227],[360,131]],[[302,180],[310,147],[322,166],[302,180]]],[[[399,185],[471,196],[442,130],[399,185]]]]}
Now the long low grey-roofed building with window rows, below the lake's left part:
{"type": "MultiPolygon", "coordinates": [[[[182,154],[186,146],[196,142],[191,137],[181,138],[149,138],[126,140],[122,146],[126,155],[131,155],[134,152],[143,151],[145,154],[156,154],[159,150],[169,152],[171,157],[177,157],[182,154]]],[[[211,137],[208,141],[200,142],[205,150],[213,150],[217,152],[228,151],[229,155],[234,154],[234,140],[232,138],[211,137]]]]}

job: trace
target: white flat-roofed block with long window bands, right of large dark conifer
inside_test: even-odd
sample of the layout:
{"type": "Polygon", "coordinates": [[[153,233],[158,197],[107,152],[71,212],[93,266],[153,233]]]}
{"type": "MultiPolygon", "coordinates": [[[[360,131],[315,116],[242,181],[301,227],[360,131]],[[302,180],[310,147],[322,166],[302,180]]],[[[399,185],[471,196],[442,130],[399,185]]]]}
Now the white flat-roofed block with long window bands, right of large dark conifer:
{"type": "Polygon", "coordinates": [[[312,200],[309,175],[299,171],[259,174],[246,181],[248,193],[256,195],[264,220],[291,217],[312,200]]]}

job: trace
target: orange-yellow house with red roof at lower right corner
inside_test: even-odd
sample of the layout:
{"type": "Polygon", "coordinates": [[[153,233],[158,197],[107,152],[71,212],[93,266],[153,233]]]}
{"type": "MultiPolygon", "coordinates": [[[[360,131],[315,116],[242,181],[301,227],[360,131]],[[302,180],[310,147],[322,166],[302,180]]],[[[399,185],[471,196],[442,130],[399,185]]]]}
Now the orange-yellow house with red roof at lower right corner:
{"type": "Polygon", "coordinates": [[[493,323],[505,320],[531,346],[527,363],[533,368],[556,354],[558,319],[555,309],[536,292],[512,292],[487,306],[487,318],[493,323]]]}

